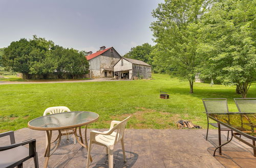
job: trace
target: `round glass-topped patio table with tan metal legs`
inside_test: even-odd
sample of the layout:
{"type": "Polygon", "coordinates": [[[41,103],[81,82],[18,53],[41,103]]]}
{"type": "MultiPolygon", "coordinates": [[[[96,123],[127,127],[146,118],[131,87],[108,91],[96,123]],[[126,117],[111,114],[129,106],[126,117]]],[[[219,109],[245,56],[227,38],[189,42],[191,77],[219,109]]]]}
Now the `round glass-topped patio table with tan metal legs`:
{"type": "Polygon", "coordinates": [[[72,134],[75,135],[77,142],[84,148],[88,149],[87,125],[92,122],[95,122],[98,118],[99,118],[99,115],[93,112],[70,111],[70,112],[57,113],[57,114],[52,114],[47,116],[41,116],[29,121],[28,127],[30,129],[46,131],[46,134],[47,134],[48,144],[45,152],[46,159],[45,159],[44,167],[47,167],[49,157],[56,151],[56,149],[60,144],[61,135],[63,135],[63,133],[61,134],[61,130],[71,130],[72,134]],[[86,129],[84,132],[85,143],[83,143],[83,139],[82,139],[81,126],[86,126],[86,129]],[[77,134],[77,128],[79,131],[79,135],[77,134]],[[58,137],[55,139],[55,141],[51,142],[53,130],[58,131],[58,137]],[[56,141],[57,141],[57,144],[55,148],[51,151],[51,144],[56,141]]]}

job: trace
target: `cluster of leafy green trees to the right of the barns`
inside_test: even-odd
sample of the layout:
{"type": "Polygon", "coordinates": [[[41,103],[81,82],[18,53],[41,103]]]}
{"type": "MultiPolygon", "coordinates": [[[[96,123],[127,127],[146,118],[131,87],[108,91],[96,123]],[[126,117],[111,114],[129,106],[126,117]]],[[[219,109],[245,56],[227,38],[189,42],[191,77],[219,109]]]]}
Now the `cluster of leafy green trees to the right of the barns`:
{"type": "Polygon", "coordinates": [[[256,80],[255,0],[165,0],[152,12],[155,46],[133,47],[124,56],[188,80],[195,75],[237,86],[246,97],[256,80]]]}

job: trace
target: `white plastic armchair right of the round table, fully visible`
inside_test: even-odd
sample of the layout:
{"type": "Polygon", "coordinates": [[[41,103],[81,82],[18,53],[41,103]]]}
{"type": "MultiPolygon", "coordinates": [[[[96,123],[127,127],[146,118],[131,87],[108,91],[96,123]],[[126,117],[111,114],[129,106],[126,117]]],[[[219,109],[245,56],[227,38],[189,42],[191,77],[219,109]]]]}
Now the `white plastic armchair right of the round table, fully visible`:
{"type": "Polygon", "coordinates": [[[124,135],[125,126],[127,124],[127,120],[130,117],[131,116],[127,117],[123,121],[112,121],[110,125],[110,129],[108,131],[104,131],[104,132],[91,131],[90,132],[90,141],[89,141],[88,156],[87,156],[87,167],[89,167],[90,165],[92,144],[98,144],[106,147],[106,151],[109,154],[109,167],[112,168],[114,145],[119,141],[121,141],[122,151],[123,151],[123,160],[126,161],[124,144],[123,144],[123,135],[124,135]]]}

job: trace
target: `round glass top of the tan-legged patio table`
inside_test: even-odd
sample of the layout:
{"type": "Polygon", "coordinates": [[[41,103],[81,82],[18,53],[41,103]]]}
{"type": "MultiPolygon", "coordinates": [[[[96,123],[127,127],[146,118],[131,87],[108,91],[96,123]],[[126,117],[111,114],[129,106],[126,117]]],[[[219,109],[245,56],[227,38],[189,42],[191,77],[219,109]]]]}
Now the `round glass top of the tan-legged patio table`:
{"type": "Polygon", "coordinates": [[[96,120],[98,117],[98,114],[88,111],[71,111],[42,116],[31,120],[28,124],[39,128],[68,127],[88,123],[96,120]]]}

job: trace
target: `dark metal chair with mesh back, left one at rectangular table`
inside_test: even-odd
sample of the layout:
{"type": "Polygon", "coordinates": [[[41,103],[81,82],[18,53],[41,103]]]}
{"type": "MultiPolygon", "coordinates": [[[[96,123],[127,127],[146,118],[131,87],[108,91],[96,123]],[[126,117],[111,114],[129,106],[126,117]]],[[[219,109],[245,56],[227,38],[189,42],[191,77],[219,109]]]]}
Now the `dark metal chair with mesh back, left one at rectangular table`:
{"type": "MultiPolygon", "coordinates": [[[[210,114],[210,113],[229,113],[229,111],[228,111],[228,106],[227,106],[227,99],[225,99],[225,98],[220,98],[220,99],[212,98],[212,99],[202,99],[202,100],[203,100],[203,104],[204,104],[204,108],[205,108],[205,112],[206,112],[206,116],[207,116],[207,132],[206,132],[206,138],[205,138],[205,140],[207,140],[209,124],[218,128],[218,123],[209,123],[208,114],[210,114]]],[[[228,141],[229,131],[231,131],[231,129],[229,129],[223,125],[220,125],[220,130],[228,131],[227,132],[227,141],[228,141]]]]}

